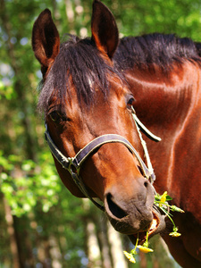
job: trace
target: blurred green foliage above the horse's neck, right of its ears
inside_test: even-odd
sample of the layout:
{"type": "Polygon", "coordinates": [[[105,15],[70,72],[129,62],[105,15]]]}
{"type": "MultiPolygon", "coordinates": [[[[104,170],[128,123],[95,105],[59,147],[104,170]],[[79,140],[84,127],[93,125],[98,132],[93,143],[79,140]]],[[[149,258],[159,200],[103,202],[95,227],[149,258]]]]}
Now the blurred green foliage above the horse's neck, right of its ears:
{"type": "Polygon", "coordinates": [[[112,1],[107,4],[117,19],[124,36],[152,32],[176,33],[179,37],[200,41],[200,1],[142,0],[112,1]],[[123,11],[123,12],[122,12],[123,11]]]}

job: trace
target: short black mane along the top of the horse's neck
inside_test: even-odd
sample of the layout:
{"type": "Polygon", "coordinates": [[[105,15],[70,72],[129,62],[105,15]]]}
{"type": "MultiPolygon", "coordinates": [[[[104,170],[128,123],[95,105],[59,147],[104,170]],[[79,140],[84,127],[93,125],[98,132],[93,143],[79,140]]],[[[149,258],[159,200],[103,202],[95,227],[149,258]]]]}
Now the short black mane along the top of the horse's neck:
{"type": "Polygon", "coordinates": [[[144,69],[155,64],[163,71],[170,71],[172,63],[183,63],[184,60],[200,64],[200,54],[201,44],[194,43],[190,38],[154,33],[121,38],[114,62],[121,70],[134,66],[144,69]]]}

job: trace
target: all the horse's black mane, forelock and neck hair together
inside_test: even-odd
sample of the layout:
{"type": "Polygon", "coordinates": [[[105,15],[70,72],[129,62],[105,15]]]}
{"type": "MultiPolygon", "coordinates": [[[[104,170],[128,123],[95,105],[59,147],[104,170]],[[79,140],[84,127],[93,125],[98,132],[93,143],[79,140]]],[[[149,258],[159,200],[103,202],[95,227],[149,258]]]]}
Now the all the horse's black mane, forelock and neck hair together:
{"type": "Polygon", "coordinates": [[[65,96],[71,96],[70,78],[77,89],[78,98],[89,107],[94,102],[99,88],[106,97],[109,92],[108,75],[117,75],[123,80],[122,71],[138,66],[148,68],[155,63],[166,72],[172,63],[184,60],[201,63],[201,45],[189,38],[175,35],[149,34],[136,38],[121,38],[113,57],[114,67],[107,65],[100,56],[91,38],[80,39],[71,36],[61,45],[47,79],[42,86],[38,108],[47,112],[52,96],[63,104],[65,96]]]}

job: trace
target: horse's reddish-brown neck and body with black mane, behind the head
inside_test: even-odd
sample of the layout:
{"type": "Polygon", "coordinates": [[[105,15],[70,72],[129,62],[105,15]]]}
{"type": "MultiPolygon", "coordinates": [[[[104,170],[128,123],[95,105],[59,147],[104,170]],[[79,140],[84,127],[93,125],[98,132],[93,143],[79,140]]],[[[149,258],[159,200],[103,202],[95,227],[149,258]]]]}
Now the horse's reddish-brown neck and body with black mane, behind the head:
{"type": "Polygon", "coordinates": [[[113,57],[135,98],[138,118],[162,141],[146,137],[155,189],[167,190],[185,214],[173,214],[180,238],[163,239],[175,260],[201,267],[201,58],[200,44],[175,35],[122,38],[113,57]]]}

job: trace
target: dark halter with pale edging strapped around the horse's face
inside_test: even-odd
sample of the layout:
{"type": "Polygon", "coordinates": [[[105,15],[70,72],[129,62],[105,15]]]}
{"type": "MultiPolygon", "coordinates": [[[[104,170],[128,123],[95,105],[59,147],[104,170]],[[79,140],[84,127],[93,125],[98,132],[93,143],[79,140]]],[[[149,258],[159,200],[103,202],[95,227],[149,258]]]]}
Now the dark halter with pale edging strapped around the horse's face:
{"type": "Polygon", "coordinates": [[[125,147],[127,147],[130,150],[130,153],[132,155],[135,155],[135,157],[138,159],[138,163],[140,165],[143,176],[147,178],[147,180],[149,180],[151,184],[153,184],[155,181],[155,173],[152,168],[150,157],[148,155],[147,145],[144,139],[142,138],[140,130],[142,130],[147,135],[148,138],[151,138],[155,141],[160,141],[161,138],[156,137],[153,133],[147,130],[147,128],[143,125],[143,123],[138,120],[138,117],[133,107],[131,111],[132,111],[132,117],[135,121],[137,130],[138,130],[138,136],[141,140],[141,144],[144,149],[145,158],[147,160],[147,165],[142,161],[141,157],[138,155],[138,152],[130,144],[130,142],[126,138],[123,138],[121,135],[117,135],[117,134],[105,134],[105,135],[99,136],[93,139],[92,141],[90,141],[86,147],[83,147],[82,149],[80,149],[78,154],[75,155],[74,157],[66,157],[60,152],[58,147],[54,145],[54,141],[50,137],[50,134],[47,130],[47,125],[46,125],[46,131],[45,131],[46,142],[50,148],[50,151],[54,155],[55,159],[59,163],[62,164],[64,169],[70,172],[72,180],[80,188],[81,192],[86,197],[88,197],[88,199],[90,199],[99,209],[103,211],[105,211],[105,207],[97,203],[92,197],[89,196],[88,190],[85,187],[83,180],[80,177],[80,168],[82,164],[85,162],[85,160],[88,159],[89,155],[95,154],[96,150],[102,147],[103,145],[105,145],[106,143],[121,143],[125,147]]]}

